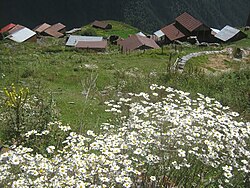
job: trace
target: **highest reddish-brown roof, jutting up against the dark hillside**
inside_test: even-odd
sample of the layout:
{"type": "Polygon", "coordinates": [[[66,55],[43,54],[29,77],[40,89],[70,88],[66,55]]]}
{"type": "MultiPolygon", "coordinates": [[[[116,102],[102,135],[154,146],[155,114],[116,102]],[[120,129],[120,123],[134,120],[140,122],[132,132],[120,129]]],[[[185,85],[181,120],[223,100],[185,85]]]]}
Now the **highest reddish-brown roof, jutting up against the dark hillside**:
{"type": "Polygon", "coordinates": [[[183,27],[185,27],[188,31],[192,32],[198,27],[202,25],[202,22],[195,19],[193,16],[184,12],[180,16],[175,19],[178,23],[180,23],[183,27]]]}

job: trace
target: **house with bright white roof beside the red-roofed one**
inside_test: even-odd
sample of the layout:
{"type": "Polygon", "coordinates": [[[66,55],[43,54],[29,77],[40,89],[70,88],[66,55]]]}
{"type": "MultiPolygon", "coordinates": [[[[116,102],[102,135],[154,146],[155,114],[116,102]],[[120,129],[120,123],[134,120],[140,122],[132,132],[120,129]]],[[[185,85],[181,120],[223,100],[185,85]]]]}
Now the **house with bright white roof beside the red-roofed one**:
{"type": "Polygon", "coordinates": [[[26,27],[16,31],[15,33],[10,34],[9,36],[7,36],[7,38],[18,43],[26,41],[36,42],[37,40],[36,33],[26,27]]]}

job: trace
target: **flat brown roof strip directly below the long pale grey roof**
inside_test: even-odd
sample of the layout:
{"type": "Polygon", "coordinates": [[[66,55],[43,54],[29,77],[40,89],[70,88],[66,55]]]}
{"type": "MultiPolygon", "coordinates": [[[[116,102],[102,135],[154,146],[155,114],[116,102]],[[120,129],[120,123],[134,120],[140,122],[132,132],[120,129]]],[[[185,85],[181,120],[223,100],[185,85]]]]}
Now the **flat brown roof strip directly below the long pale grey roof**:
{"type": "Polygon", "coordinates": [[[84,49],[105,49],[107,46],[108,42],[106,40],[102,40],[102,41],[78,41],[75,47],[84,49]]]}

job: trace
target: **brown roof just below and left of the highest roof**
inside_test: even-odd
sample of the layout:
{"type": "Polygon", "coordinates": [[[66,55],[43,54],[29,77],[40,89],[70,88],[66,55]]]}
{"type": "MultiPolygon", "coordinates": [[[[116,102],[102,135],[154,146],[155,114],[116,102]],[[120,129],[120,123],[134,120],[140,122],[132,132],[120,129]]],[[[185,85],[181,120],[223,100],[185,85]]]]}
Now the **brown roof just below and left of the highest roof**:
{"type": "Polygon", "coordinates": [[[170,41],[185,37],[185,35],[179,29],[177,29],[173,23],[162,28],[161,31],[170,41]]]}

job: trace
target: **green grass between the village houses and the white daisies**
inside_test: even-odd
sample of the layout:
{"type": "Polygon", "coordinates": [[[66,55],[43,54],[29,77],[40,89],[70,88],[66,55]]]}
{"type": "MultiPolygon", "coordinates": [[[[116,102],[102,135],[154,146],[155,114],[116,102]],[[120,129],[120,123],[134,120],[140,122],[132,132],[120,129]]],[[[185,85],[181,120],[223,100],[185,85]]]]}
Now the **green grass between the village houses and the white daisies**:
{"type": "MultiPolygon", "coordinates": [[[[98,35],[108,36],[121,32],[120,36],[126,37],[138,31],[119,22],[111,21],[111,24],[112,30],[97,29],[98,35]]],[[[87,27],[89,26],[84,28],[87,27]]],[[[201,92],[216,97],[224,104],[244,111],[247,115],[250,111],[247,102],[249,100],[247,93],[250,90],[247,76],[240,77],[242,83],[238,84],[238,77],[233,80],[227,76],[223,79],[220,77],[211,79],[205,75],[196,76],[195,70],[184,72],[182,75],[168,72],[169,63],[173,63],[177,57],[214,48],[177,46],[175,51],[174,46],[170,45],[164,47],[163,53],[159,49],[144,53],[121,54],[117,47],[111,47],[107,53],[87,53],[65,47],[64,42],[65,38],[50,37],[40,40],[37,44],[0,41],[0,76],[2,73],[5,75],[0,77],[1,89],[16,83],[30,87],[34,93],[42,91],[48,96],[52,95],[61,114],[60,118],[63,122],[70,123],[76,130],[89,128],[98,130],[101,122],[112,118],[110,114],[104,112],[105,101],[118,98],[119,92],[147,91],[152,83],[169,85],[192,93],[201,92]],[[83,93],[89,88],[91,78],[93,80],[95,77],[97,77],[96,82],[86,100],[83,93]],[[220,81],[221,79],[224,81],[220,81]],[[221,85],[218,86],[216,83],[221,85]],[[228,89],[221,90],[222,85],[228,89]],[[243,94],[240,95],[240,92],[243,94]],[[242,98],[236,101],[237,96],[242,98]]],[[[249,40],[246,43],[249,44],[249,40]]],[[[190,60],[190,66],[188,65],[186,69],[203,66],[207,61],[207,56],[194,58],[190,60]]],[[[230,67],[233,67],[231,64],[230,67]]],[[[249,69],[245,71],[247,72],[244,75],[247,75],[249,69]]]]}

